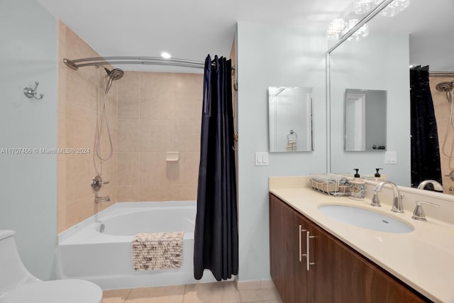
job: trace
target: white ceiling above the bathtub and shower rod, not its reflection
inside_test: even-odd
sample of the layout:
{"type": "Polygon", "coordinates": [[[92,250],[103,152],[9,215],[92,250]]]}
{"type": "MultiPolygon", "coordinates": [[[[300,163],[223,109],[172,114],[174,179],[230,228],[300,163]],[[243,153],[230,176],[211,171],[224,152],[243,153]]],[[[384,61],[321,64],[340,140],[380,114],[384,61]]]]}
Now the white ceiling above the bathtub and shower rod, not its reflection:
{"type": "MultiPolygon", "coordinates": [[[[236,22],[326,28],[349,0],[38,0],[103,56],[230,57],[236,22]]],[[[76,59],[76,58],[70,58],[76,59]]]]}

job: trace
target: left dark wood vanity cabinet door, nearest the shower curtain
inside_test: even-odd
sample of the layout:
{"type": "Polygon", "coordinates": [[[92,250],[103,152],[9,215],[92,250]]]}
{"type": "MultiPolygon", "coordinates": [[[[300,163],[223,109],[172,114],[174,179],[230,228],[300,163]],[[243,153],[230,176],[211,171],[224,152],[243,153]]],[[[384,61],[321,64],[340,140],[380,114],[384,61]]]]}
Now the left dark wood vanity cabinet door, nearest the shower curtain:
{"type": "Polygon", "coordinates": [[[270,194],[270,270],[285,303],[309,302],[306,231],[309,221],[270,194]]]}

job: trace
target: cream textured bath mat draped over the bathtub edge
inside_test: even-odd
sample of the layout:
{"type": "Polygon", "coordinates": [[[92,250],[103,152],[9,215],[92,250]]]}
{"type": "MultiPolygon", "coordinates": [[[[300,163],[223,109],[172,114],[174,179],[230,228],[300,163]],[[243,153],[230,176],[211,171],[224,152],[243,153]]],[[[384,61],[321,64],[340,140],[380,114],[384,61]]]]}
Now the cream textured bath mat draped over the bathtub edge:
{"type": "Polygon", "coordinates": [[[138,233],[132,242],[135,270],[181,268],[183,263],[182,232],[138,233]]]}

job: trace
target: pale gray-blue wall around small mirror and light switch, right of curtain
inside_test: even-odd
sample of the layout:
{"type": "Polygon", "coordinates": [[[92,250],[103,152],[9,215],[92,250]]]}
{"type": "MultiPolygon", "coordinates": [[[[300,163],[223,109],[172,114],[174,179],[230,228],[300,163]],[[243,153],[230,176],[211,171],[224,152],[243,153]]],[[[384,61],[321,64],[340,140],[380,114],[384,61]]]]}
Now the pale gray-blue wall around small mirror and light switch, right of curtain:
{"type": "Polygon", "coordinates": [[[238,23],[238,280],[270,278],[268,177],[326,172],[324,32],[238,23]],[[313,152],[271,153],[269,166],[255,166],[255,152],[268,150],[268,87],[314,87],[313,152]]]}

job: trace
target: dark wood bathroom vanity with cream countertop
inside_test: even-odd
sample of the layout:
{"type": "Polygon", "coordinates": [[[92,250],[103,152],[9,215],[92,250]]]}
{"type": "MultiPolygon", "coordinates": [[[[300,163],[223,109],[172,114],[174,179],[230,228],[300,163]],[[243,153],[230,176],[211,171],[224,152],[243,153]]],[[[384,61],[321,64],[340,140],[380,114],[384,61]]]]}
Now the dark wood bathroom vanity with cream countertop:
{"type": "Polygon", "coordinates": [[[390,189],[377,209],[368,198],[331,197],[306,184],[304,177],[270,178],[270,271],[285,303],[454,302],[451,224],[411,219],[409,201],[410,210],[392,213],[390,189]],[[326,204],[379,212],[411,231],[341,222],[320,211],[326,204]]]}

